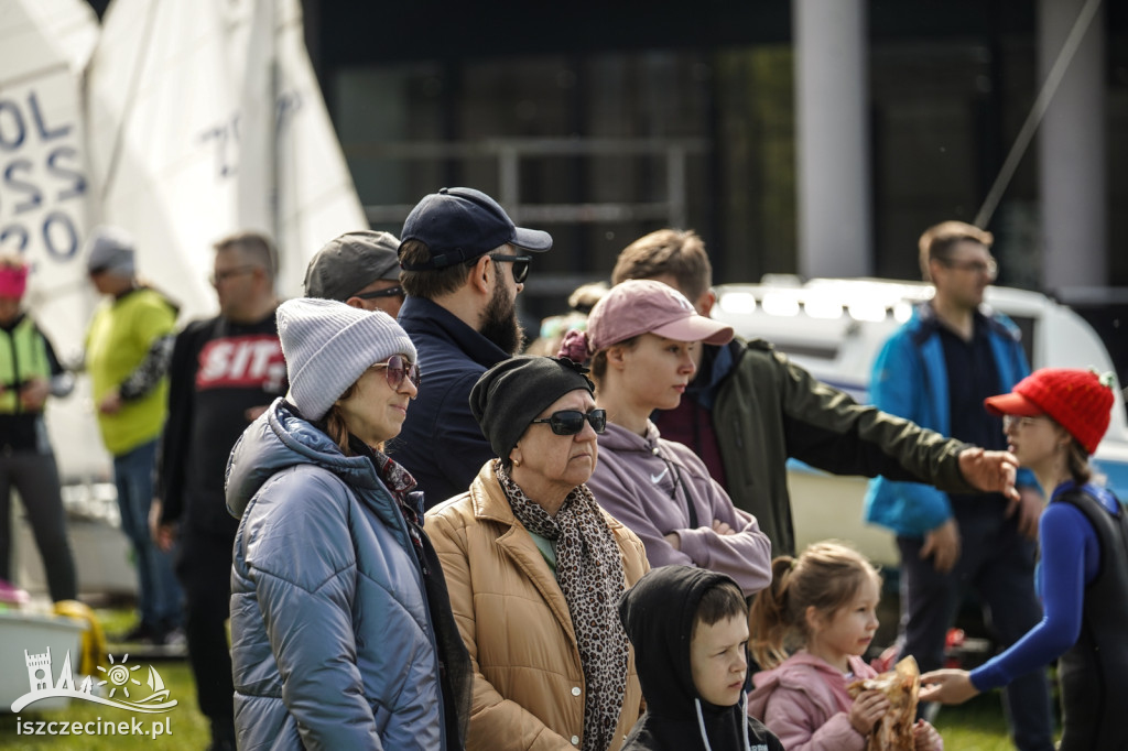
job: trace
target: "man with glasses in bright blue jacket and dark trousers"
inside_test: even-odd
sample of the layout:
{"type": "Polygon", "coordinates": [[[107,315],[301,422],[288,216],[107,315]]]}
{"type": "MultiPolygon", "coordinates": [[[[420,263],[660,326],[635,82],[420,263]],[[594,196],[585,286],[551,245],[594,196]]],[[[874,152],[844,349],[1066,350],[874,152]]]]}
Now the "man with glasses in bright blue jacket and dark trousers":
{"type": "MultiPolygon", "coordinates": [[[[885,412],[987,449],[1005,449],[1002,422],[984,399],[1011,390],[1030,372],[1017,327],[982,306],[995,279],[990,232],[943,222],[920,237],[920,267],[936,293],[885,342],[871,395],[885,412]]],[[[1033,590],[1034,539],[1042,500],[1020,470],[1015,507],[999,494],[943,493],[879,477],[865,500],[866,520],[892,529],[901,559],[904,654],[922,672],[942,666],[944,638],[968,586],[984,602],[1005,648],[1041,619],[1033,590]],[[1015,513],[1017,512],[1017,513],[1015,513]]],[[[1019,749],[1052,749],[1043,671],[1005,691],[1019,749]]]]}

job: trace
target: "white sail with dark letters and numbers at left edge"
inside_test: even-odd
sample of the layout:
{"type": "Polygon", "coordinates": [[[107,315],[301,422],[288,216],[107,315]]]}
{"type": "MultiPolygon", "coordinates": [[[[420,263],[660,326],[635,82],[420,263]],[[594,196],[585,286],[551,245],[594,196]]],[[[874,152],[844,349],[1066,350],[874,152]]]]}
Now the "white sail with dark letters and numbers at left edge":
{"type": "MultiPolygon", "coordinates": [[[[80,249],[92,198],[82,72],[98,32],[83,0],[0,0],[0,250],[30,264],[25,303],[64,359],[96,302],[80,249]]],[[[49,403],[47,422],[64,476],[107,476],[85,385],[49,403]]]]}

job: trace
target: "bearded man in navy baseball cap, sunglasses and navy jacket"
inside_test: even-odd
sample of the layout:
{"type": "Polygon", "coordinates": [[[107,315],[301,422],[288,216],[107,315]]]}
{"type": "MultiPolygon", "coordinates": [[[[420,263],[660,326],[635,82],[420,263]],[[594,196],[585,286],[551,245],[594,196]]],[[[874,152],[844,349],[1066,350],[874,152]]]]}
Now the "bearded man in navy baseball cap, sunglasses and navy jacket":
{"type": "Polygon", "coordinates": [[[548,250],[553,238],[514,227],[496,201],[464,187],[424,196],[400,238],[407,298],[399,325],[418,351],[423,386],[388,452],[431,507],[465,493],[494,456],[470,414],[470,388],[525,344],[517,294],[532,260],[527,251],[548,250]]]}

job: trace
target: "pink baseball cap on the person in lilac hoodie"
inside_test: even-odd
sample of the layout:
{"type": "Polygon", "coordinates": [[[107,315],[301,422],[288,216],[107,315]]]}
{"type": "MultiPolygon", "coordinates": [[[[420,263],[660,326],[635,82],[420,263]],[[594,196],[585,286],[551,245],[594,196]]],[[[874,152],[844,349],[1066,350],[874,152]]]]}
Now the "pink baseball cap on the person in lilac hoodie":
{"type": "Polygon", "coordinates": [[[588,347],[598,352],[640,334],[676,342],[728,344],[732,327],[698,316],[693,303],[668,284],[629,280],[611,288],[588,316],[588,347]]]}

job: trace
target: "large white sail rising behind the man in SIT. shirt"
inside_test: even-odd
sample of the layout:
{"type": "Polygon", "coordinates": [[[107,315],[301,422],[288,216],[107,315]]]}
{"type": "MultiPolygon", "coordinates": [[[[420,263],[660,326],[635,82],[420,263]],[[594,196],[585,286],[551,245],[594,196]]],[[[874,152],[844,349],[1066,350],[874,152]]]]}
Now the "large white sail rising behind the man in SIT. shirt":
{"type": "Polygon", "coordinates": [[[214,309],[211,244],[275,237],[280,291],[363,211],[302,43],[297,0],[115,0],[88,82],[100,221],[194,317],[214,309]]]}

